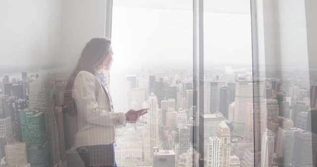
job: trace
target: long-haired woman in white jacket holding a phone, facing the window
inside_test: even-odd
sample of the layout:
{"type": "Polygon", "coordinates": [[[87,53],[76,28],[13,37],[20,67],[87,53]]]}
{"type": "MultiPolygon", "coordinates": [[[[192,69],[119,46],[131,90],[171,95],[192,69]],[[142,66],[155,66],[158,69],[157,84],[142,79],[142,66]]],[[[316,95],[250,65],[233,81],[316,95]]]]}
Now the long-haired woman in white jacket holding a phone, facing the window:
{"type": "Polygon", "coordinates": [[[110,70],[113,53],[110,40],[95,38],[82,51],[66,89],[72,90],[76,104],[78,132],[75,147],[85,167],[116,167],[114,161],[115,127],[135,123],[148,109],[113,112],[105,71],[110,70]]]}

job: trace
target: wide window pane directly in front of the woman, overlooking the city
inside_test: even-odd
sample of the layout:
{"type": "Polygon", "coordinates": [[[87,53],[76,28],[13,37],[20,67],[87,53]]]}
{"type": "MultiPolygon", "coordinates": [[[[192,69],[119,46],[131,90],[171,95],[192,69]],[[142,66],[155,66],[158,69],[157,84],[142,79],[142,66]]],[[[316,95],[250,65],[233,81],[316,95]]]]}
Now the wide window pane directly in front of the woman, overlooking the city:
{"type": "Polygon", "coordinates": [[[113,1],[114,108],[150,108],[138,123],[116,130],[118,166],[198,163],[191,149],[192,34],[192,0],[113,1]]]}

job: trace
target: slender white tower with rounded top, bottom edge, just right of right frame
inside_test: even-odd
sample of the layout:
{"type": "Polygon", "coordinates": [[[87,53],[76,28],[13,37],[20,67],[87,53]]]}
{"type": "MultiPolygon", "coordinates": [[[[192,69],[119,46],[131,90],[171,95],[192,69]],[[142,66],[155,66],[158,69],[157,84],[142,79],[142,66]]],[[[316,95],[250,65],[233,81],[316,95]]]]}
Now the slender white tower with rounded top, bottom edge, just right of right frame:
{"type": "Polygon", "coordinates": [[[271,131],[265,130],[262,138],[261,165],[270,167],[273,163],[274,136],[271,131]]]}

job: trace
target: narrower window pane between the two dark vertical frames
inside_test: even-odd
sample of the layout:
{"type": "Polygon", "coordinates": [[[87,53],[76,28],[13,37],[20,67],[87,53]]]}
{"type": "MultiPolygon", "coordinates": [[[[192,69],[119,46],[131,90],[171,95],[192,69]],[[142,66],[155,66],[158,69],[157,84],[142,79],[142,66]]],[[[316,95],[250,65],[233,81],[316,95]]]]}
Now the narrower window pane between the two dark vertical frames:
{"type": "Polygon", "coordinates": [[[252,76],[250,0],[204,0],[204,67],[201,164],[253,167],[253,113],[264,107],[264,81],[252,76]]]}

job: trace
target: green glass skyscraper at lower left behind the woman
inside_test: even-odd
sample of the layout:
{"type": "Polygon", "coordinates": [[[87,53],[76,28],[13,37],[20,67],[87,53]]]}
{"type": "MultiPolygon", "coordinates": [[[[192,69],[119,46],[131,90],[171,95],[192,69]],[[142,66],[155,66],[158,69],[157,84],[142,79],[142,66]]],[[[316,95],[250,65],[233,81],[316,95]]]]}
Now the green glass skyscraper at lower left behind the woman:
{"type": "Polygon", "coordinates": [[[26,144],[28,162],[32,167],[51,166],[45,113],[39,109],[26,108],[20,112],[20,117],[22,140],[26,144]]]}

